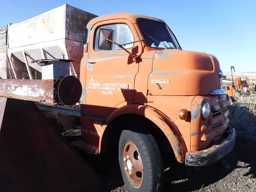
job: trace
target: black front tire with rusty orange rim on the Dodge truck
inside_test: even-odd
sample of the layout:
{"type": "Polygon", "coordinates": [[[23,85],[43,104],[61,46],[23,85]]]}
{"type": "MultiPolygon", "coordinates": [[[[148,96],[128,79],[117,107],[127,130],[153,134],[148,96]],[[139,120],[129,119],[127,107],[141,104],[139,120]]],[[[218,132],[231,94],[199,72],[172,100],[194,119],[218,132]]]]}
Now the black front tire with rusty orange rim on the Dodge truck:
{"type": "Polygon", "coordinates": [[[132,127],[119,139],[119,165],[129,192],[160,192],[163,187],[160,151],[153,136],[145,131],[132,127]]]}

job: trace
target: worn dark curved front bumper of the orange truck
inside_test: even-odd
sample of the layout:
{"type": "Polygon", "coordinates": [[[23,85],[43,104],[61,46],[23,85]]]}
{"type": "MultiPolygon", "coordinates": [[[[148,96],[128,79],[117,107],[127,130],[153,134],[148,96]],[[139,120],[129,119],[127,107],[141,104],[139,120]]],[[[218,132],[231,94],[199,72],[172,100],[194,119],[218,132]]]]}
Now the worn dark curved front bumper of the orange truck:
{"type": "Polygon", "coordinates": [[[228,154],[234,147],[236,142],[236,131],[230,127],[229,136],[223,139],[221,144],[214,145],[202,151],[189,151],[185,156],[185,165],[203,166],[221,159],[228,154]]]}

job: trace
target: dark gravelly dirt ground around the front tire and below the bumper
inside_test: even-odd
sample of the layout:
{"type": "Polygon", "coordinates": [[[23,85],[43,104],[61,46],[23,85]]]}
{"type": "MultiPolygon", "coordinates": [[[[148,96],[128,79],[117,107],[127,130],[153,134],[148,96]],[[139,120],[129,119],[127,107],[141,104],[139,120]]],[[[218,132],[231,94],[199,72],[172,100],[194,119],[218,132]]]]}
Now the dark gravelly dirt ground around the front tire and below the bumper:
{"type": "MultiPolygon", "coordinates": [[[[78,153],[102,178],[97,192],[128,192],[118,164],[117,154],[78,153]]],[[[163,192],[255,192],[256,140],[236,138],[233,150],[208,166],[191,167],[178,163],[171,153],[163,155],[165,182],[163,192]]]]}

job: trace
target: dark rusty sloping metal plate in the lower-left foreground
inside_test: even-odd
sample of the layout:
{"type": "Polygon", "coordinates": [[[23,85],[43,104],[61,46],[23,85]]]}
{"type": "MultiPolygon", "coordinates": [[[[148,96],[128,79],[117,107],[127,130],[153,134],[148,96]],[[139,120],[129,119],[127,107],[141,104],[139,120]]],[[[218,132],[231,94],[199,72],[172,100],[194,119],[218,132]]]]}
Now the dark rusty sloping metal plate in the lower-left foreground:
{"type": "Polygon", "coordinates": [[[94,191],[102,181],[32,101],[0,97],[0,191],[94,191]]]}

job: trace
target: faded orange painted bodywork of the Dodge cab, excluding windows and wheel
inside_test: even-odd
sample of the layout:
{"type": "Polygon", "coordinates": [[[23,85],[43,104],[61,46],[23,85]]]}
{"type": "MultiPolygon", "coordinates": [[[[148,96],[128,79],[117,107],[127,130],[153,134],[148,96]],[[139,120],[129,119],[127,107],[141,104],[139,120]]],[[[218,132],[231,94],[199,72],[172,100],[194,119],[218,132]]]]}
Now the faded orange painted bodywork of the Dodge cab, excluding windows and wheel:
{"type": "MultiPolygon", "coordinates": [[[[87,131],[82,135],[85,140],[99,144],[100,149],[102,135],[111,121],[121,114],[138,114],[161,129],[171,143],[177,160],[184,162],[186,151],[209,148],[211,139],[208,138],[221,139],[216,138],[215,133],[222,128],[224,131],[228,123],[225,107],[221,108],[222,128],[216,128],[218,131],[215,133],[210,132],[213,125],[201,117],[204,99],[210,106],[223,103],[215,103],[218,95],[210,95],[213,90],[220,89],[219,63],[212,54],[177,49],[159,51],[144,42],[137,42],[134,48],[129,49],[131,54],[141,56],[137,63],[122,49],[94,49],[96,30],[113,23],[128,25],[134,41],[143,39],[137,17],[144,18],[134,14],[112,14],[104,16],[104,20],[103,17],[95,18],[87,25],[89,52],[84,53],[84,64],[81,65],[81,71],[86,71],[86,75],[80,76],[86,89],[81,103],[81,121],[87,131]],[[177,82],[178,86],[174,87],[177,82]],[[187,120],[179,117],[183,109],[189,112],[187,120]],[[94,120],[90,121],[92,117],[94,120]],[[97,118],[105,122],[97,123],[97,118]],[[101,135],[90,135],[88,131],[101,135]]],[[[212,112],[209,118],[212,122],[216,121],[212,112]]]]}

